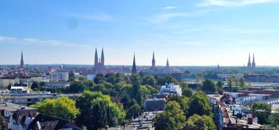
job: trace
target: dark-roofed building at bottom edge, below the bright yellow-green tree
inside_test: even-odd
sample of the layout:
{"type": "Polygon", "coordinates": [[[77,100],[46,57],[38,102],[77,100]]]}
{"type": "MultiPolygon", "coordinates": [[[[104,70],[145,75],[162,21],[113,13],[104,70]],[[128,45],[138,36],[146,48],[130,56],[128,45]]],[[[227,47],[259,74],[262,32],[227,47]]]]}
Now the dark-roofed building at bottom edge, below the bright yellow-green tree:
{"type": "Polygon", "coordinates": [[[38,114],[35,119],[29,124],[28,130],[82,130],[76,124],[68,120],[59,119],[50,115],[38,114]]]}

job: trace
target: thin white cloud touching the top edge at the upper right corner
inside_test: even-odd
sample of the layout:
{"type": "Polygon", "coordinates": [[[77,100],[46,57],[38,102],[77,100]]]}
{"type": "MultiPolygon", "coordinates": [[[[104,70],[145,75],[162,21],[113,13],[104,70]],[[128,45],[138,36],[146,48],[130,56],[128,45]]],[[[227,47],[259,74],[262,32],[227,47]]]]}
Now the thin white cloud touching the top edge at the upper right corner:
{"type": "Polygon", "coordinates": [[[202,3],[197,3],[196,6],[226,6],[226,7],[236,7],[236,6],[247,6],[258,3],[271,3],[279,2],[278,0],[205,0],[202,3]]]}

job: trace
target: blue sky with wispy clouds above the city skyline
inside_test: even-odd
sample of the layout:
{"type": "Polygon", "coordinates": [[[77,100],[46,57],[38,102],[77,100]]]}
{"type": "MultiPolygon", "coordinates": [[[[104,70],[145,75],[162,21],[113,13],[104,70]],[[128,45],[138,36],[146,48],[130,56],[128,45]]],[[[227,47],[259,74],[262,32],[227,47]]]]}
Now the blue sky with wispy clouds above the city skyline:
{"type": "Polygon", "coordinates": [[[0,64],[279,65],[279,0],[0,2],[0,64]]]}

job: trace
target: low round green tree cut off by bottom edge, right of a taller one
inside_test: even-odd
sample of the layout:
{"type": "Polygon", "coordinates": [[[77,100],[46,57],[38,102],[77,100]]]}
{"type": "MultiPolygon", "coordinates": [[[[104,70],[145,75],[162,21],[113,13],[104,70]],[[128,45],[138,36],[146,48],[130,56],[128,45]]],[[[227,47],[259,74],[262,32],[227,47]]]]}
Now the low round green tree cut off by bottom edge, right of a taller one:
{"type": "Polygon", "coordinates": [[[184,129],[187,130],[215,130],[216,125],[213,122],[212,117],[207,115],[192,115],[186,122],[186,127],[184,129]]]}

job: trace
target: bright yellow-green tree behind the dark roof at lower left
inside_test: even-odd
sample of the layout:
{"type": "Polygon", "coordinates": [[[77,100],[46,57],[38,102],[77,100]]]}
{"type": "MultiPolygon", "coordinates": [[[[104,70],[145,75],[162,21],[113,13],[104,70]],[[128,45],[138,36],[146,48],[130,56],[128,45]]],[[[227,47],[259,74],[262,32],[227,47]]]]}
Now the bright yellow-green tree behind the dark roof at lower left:
{"type": "Polygon", "coordinates": [[[71,121],[73,121],[80,113],[79,109],[75,108],[75,101],[68,97],[45,99],[44,101],[31,105],[31,107],[38,108],[39,113],[71,121]]]}

